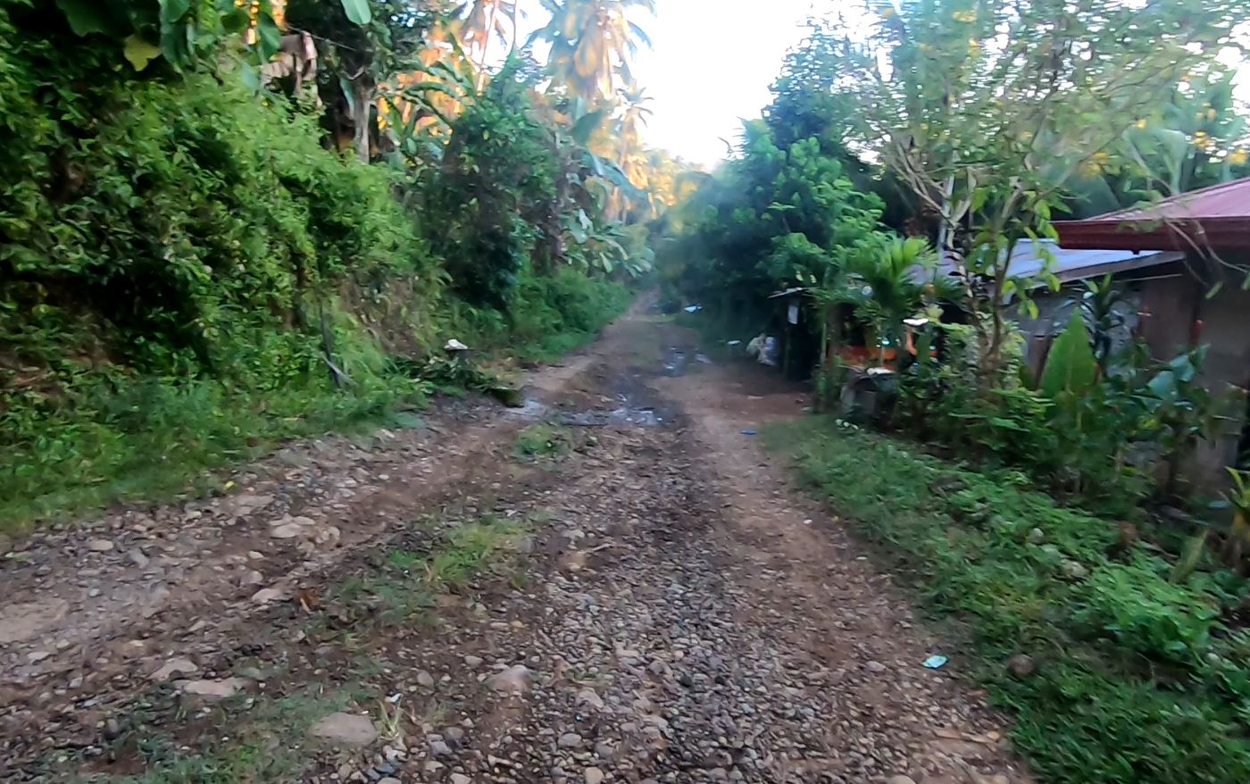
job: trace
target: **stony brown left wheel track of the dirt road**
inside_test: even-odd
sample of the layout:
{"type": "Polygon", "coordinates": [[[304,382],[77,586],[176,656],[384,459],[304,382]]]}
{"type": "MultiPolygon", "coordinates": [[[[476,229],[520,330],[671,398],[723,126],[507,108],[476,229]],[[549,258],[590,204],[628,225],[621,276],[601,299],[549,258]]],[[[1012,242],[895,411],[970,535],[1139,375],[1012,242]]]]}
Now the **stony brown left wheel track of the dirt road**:
{"type": "MultiPolygon", "coordinates": [[[[548,400],[598,360],[571,356],[525,386],[548,400]]],[[[528,424],[486,401],[450,401],[419,429],[290,444],[235,471],[232,495],[31,534],[2,563],[0,761],[29,759],[61,730],[96,733],[91,721],[165,663],[232,650],[300,585],[466,489],[509,481],[528,424]]]]}

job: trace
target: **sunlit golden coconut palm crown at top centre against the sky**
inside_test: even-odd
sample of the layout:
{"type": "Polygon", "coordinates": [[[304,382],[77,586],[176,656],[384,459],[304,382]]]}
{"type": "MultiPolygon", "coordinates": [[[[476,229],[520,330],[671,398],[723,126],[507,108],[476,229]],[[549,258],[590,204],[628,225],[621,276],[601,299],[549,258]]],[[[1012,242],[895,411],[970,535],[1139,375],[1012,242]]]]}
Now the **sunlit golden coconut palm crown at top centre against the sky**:
{"type": "Polygon", "coordinates": [[[634,9],[655,14],[655,0],[542,0],[551,14],[530,40],[551,45],[551,85],[598,104],[619,84],[630,84],[630,64],[639,44],[651,40],[629,19],[634,9]]]}

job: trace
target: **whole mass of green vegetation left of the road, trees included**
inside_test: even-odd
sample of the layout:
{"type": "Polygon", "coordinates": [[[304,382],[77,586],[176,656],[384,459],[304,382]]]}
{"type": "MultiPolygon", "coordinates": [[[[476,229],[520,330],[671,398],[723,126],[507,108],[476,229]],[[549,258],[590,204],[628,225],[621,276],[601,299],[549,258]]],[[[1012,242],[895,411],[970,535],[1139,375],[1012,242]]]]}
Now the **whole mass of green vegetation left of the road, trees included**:
{"type": "Polygon", "coordinates": [[[622,311],[670,199],[591,140],[615,95],[480,71],[469,13],[0,0],[0,528],[214,489],[421,406],[448,339],[550,360],[622,311]]]}

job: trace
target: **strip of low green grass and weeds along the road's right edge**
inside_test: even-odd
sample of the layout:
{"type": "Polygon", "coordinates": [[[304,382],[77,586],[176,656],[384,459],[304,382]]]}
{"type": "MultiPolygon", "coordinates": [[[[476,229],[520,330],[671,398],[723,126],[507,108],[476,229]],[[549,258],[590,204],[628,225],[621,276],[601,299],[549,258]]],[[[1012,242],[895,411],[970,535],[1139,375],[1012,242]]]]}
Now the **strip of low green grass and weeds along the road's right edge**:
{"type": "Polygon", "coordinates": [[[1159,551],[1018,473],[831,418],[764,436],[925,608],[956,621],[968,674],[1015,713],[1014,744],[1044,780],[1250,780],[1244,580],[1209,560],[1172,583],[1159,551]],[[1012,674],[1016,655],[1032,674],[1012,674]]]}

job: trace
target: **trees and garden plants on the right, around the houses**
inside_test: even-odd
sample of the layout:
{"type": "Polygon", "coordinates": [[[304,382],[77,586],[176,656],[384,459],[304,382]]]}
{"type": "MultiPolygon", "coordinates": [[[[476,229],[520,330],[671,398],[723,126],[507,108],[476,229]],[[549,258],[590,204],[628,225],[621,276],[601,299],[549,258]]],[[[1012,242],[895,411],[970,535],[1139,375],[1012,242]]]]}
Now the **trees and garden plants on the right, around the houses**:
{"type": "Polygon", "coordinates": [[[1112,280],[1071,304],[1049,361],[1034,349],[1045,373],[1026,368],[1012,319],[1038,318],[1032,299],[1060,285],[1052,216],[1084,214],[1094,191],[1129,206],[1245,173],[1219,53],[1250,6],[864,10],[871,21],[812,21],[738,156],[665,215],[672,299],[702,305],[688,320],[705,334],[784,339],[784,369],[811,373],[826,410],[1108,514],[1199,508],[1182,468],[1238,410],[1205,389],[1205,350],[1112,340],[1130,331],[1112,280]],[[1009,263],[1022,241],[1040,264],[1009,263]],[[896,373],[861,378],[872,366],[896,373]]]}

